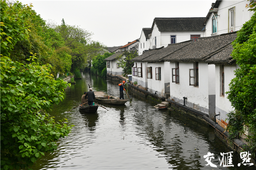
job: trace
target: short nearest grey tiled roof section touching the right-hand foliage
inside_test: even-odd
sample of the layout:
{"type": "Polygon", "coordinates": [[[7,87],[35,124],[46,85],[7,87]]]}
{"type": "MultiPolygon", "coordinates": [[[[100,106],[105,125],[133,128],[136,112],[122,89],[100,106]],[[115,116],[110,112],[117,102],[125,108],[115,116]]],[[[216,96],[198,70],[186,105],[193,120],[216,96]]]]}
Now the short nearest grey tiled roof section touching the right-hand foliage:
{"type": "Polygon", "coordinates": [[[218,52],[205,62],[208,64],[233,64],[236,60],[232,59],[230,56],[231,52],[233,51],[233,46],[229,44],[222,51],[218,52]]]}

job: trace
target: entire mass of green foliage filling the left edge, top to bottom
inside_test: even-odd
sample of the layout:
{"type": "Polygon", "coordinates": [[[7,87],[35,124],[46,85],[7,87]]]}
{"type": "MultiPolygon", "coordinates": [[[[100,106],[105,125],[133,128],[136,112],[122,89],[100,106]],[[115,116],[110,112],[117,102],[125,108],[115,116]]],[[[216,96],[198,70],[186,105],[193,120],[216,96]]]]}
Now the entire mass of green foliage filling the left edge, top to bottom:
{"type": "Polygon", "coordinates": [[[45,152],[55,150],[55,141],[67,136],[71,129],[65,124],[66,119],[55,122],[46,113],[62,101],[64,89],[70,86],[63,80],[54,80],[51,69],[69,69],[70,56],[63,52],[64,43],[58,34],[50,29],[43,31],[44,21],[30,7],[1,1],[1,170],[33,165],[45,152]],[[42,34],[49,38],[43,41],[42,34]],[[53,41],[52,35],[60,41],[53,41]],[[55,50],[54,46],[61,48],[55,50]],[[46,47],[48,50],[44,50],[46,47]],[[39,57],[31,51],[37,51],[39,57]],[[54,57],[64,67],[44,64],[54,57]]]}

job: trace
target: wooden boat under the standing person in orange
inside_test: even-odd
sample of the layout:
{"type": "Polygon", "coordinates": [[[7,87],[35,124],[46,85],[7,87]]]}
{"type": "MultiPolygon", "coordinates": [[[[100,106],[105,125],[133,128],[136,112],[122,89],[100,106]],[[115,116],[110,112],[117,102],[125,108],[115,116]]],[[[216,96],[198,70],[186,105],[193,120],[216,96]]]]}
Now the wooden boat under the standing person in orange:
{"type": "Polygon", "coordinates": [[[94,92],[95,101],[109,105],[124,105],[128,100],[119,99],[118,97],[110,96],[102,91],[94,92]]]}

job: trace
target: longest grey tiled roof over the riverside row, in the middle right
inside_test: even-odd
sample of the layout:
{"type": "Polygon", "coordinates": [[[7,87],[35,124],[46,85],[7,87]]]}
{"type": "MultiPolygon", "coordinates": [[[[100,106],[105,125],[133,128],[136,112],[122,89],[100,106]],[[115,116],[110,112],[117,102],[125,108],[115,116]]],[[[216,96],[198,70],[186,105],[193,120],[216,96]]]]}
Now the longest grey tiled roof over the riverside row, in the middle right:
{"type": "Polygon", "coordinates": [[[231,44],[236,37],[236,32],[210,37],[200,37],[196,42],[165,57],[164,61],[205,61],[216,53],[222,51],[223,48],[231,44]]]}

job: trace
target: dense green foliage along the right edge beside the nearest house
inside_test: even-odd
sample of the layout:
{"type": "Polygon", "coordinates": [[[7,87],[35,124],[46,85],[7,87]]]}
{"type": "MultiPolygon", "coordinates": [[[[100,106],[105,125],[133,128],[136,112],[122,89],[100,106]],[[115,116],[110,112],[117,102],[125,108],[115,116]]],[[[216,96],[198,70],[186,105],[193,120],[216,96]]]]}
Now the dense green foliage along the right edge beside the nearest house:
{"type": "Polygon", "coordinates": [[[235,71],[227,92],[228,99],[235,110],[229,114],[228,130],[231,137],[243,132],[243,125],[254,134],[248,136],[247,142],[255,156],[256,152],[256,13],[238,32],[233,42],[233,59],[240,66],[235,71]],[[242,120],[242,123],[241,123],[242,120]]]}

